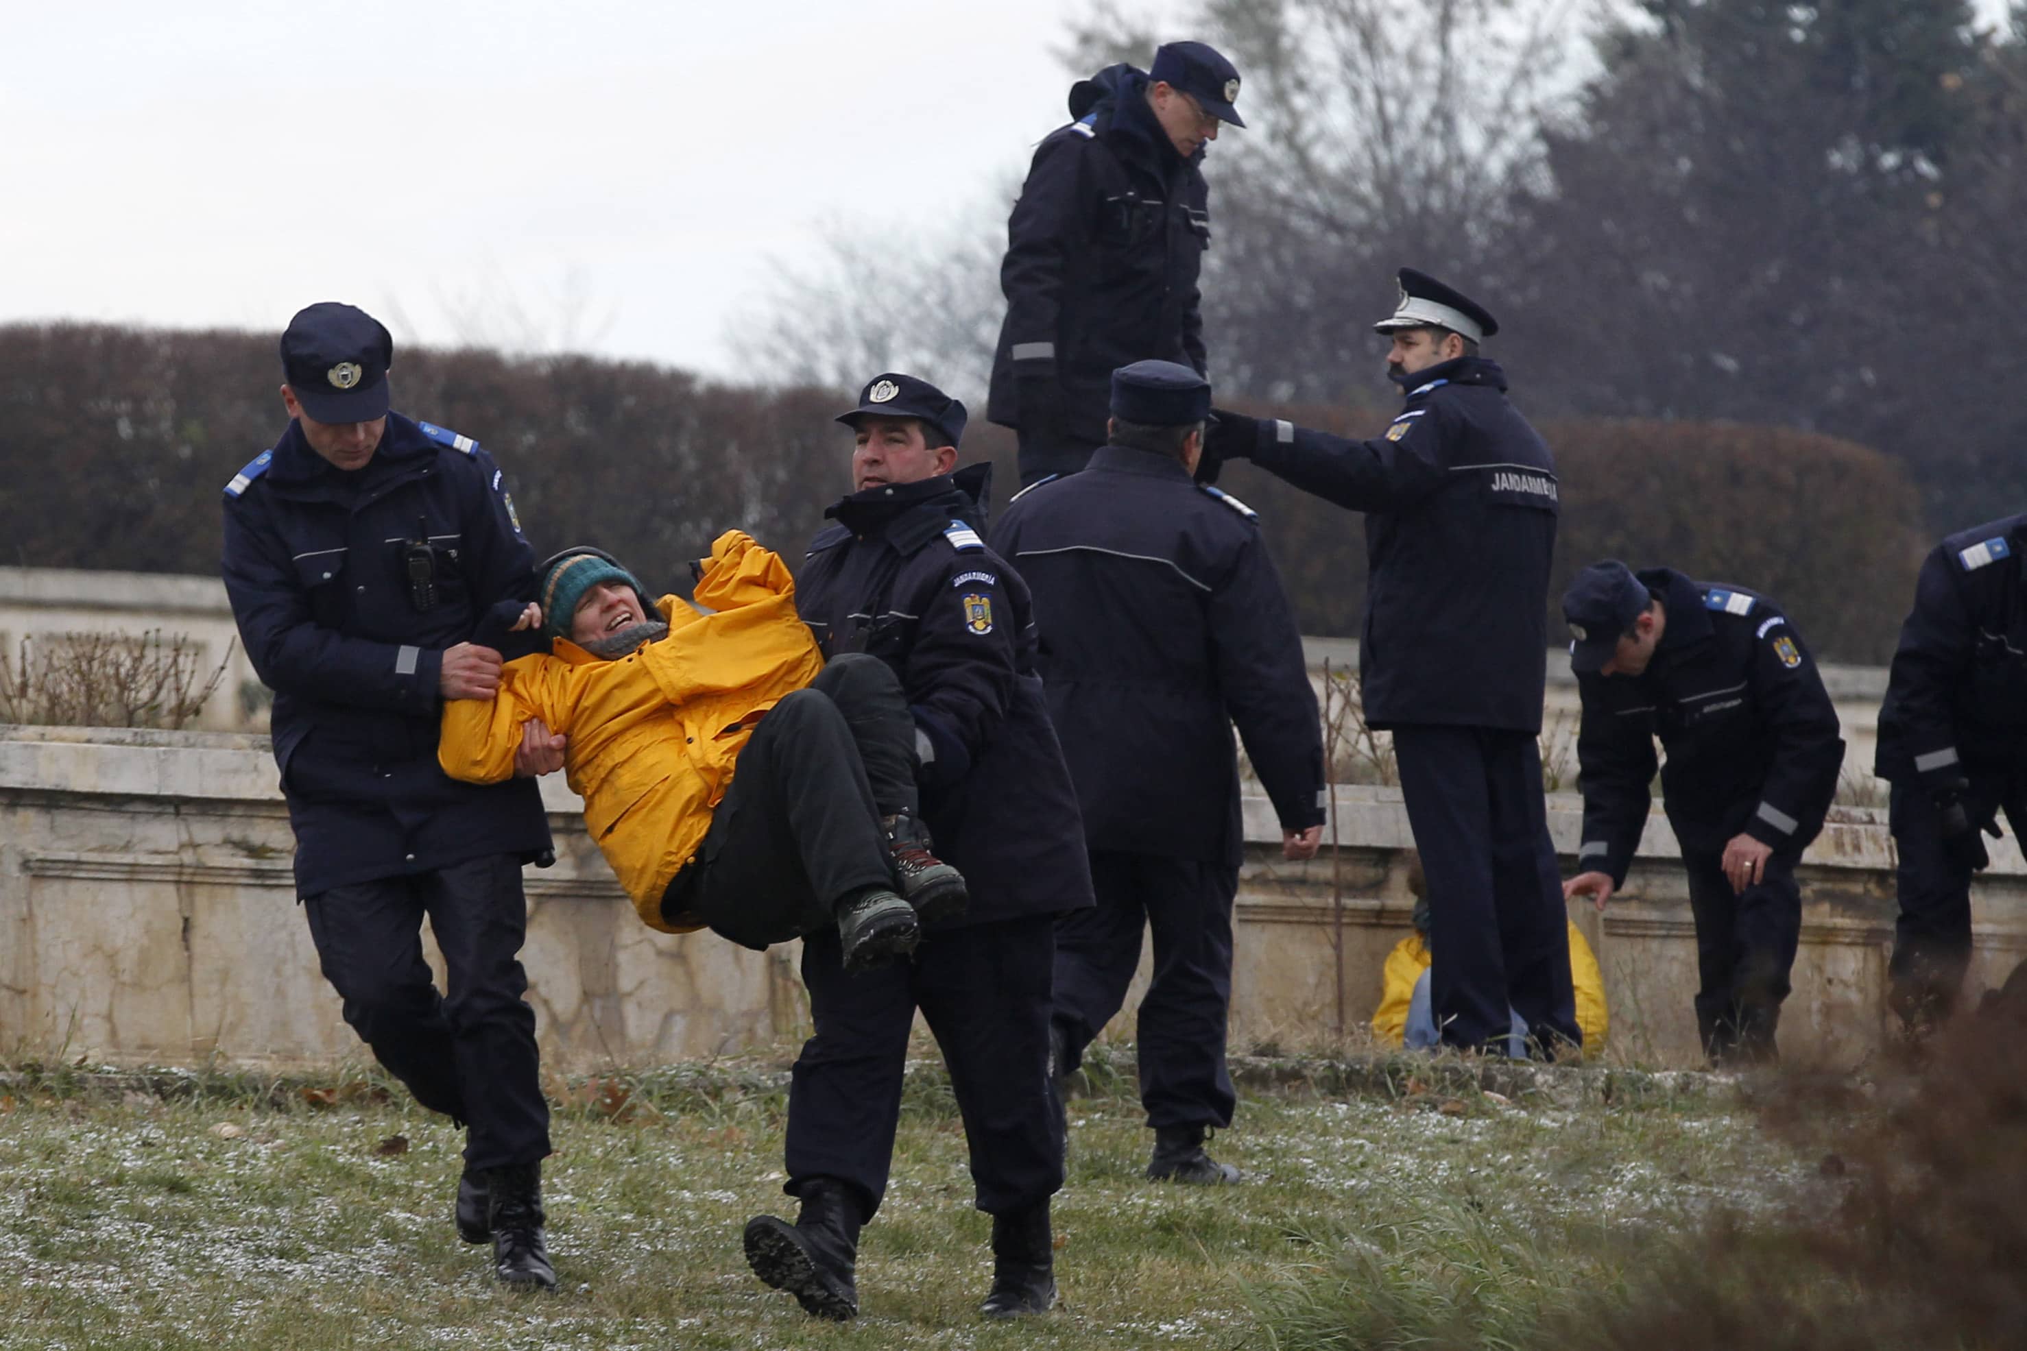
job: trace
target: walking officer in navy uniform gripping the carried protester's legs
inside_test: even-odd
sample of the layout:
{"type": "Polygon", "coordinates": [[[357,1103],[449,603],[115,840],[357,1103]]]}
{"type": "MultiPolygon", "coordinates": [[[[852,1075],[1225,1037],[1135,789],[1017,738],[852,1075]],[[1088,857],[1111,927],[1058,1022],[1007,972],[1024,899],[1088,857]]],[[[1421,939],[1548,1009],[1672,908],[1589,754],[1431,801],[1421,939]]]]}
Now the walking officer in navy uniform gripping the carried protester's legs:
{"type": "Polygon", "coordinates": [[[797,608],[825,654],[888,662],[914,709],[926,822],[896,818],[896,853],[926,849],[967,881],[961,913],[924,911],[914,964],[847,978],[837,940],[803,942],[817,1035],[789,1090],[797,1225],[746,1229],[754,1270],[809,1313],[857,1313],[859,1225],[886,1193],[916,1009],[951,1067],[975,1203],[993,1217],[987,1317],[1056,1300],[1048,1207],[1062,1187],[1050,1080],[1054,920],[1091,905],[1076,796],[1036,677],[1028,585],[985,547],[991,466],[953,474],[965,405],[900,373],[868,381],[837,421],[855,431],[853,492],[825,514],[797,608]]]}

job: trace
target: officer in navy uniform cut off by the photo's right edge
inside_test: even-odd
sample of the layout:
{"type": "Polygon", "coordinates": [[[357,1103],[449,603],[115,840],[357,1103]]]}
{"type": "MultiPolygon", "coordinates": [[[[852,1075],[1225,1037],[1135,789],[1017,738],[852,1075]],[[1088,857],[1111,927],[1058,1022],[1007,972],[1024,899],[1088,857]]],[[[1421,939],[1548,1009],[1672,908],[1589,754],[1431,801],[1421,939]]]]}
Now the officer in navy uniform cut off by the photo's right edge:
{"type": "Polygon", "coordinates": [[[1956,1005],[1970,966],[1978,832],[2027,830],[2027,516],[1942,541],[1922,563],[1913,610],[1879,709],[1873,772],[1893,784],[1899,926],[1891,1001],[1926,1029],[1956,1005]]]}

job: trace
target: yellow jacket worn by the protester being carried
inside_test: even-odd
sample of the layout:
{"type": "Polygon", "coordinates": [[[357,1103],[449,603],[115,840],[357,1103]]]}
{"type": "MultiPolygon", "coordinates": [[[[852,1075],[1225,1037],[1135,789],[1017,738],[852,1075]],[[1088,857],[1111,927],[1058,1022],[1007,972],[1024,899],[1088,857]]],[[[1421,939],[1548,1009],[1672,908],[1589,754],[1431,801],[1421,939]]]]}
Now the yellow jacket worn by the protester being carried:
{"type": "Polygon", "coordinates": [[[568,735],[584,824],[641,920],[665,934],[699,928],[663,920],[661,897],[703,843],[758,715],[823,668],[789,567],[744,533],[718,537],[695,595],[695,608],[663,595],[669,636],[632,656],[602,660],[557,638],[553,656],[507,662],[491,701],[444,703],[436,749],[450,778],[497,784],[513,776],[521,723],[568,735]]]}

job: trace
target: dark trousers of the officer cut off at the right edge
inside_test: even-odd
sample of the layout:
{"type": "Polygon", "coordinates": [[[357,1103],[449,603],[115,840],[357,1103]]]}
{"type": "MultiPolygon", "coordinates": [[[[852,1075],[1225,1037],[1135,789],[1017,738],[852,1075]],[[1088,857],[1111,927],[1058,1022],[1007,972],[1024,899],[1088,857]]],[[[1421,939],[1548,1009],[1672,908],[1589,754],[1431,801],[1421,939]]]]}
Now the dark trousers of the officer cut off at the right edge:
{"type": "MultiPolygon", "coordinates": [[[[2027,839],[2027,776],[1972,770],[1966,778],[1970,820],[1993,820],[2003,810],[2015,839],[2027,839]]],[[[1970,966],[1970,861],[1944,845],[1942,814],[1920,784],[1893,784],[1887,822],[1899,855],[1891,1001],[1905,1019],[1942,1017],[1956,1005],[1970,966]]]]}

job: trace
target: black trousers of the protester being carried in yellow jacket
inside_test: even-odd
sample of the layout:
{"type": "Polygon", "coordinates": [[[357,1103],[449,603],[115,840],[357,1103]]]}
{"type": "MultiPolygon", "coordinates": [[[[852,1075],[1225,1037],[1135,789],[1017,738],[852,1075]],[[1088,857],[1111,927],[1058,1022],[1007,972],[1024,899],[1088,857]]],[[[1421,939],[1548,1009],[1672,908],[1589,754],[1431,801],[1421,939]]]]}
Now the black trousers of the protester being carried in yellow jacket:
{"type": "Polygon", "coordinates": [[[912,810],[908,697],[878,656],[835,656],[760,719],[661,909],[748,948],[789,942],[827,926],[839,901],[894,885],[880,818],[912,810]]]}

